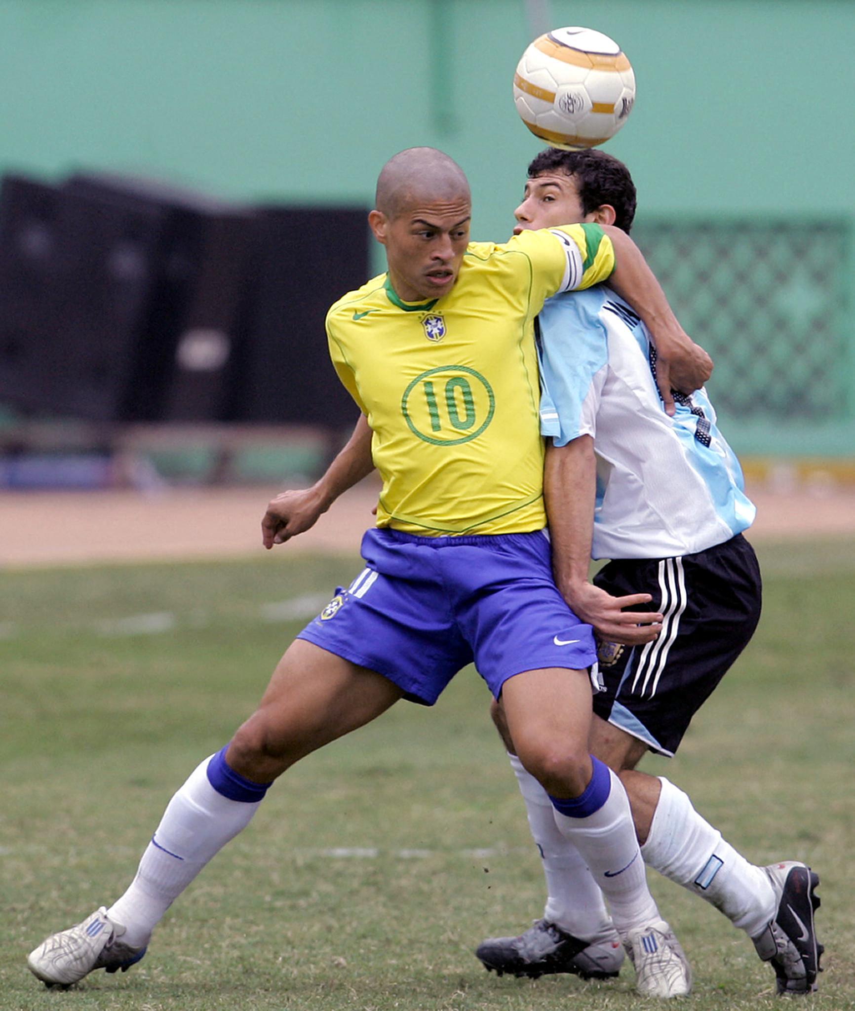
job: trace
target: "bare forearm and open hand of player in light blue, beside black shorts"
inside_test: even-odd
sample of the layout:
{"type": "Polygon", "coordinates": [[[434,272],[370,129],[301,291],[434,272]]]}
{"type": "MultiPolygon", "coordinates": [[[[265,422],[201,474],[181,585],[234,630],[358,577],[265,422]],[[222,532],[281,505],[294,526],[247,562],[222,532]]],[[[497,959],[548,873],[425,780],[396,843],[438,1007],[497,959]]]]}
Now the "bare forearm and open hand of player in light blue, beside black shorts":
{"type": "Polygon", "coordinates": [[[580,436],[566,446],[547,446],[544,495],[555,582],[564,600],[608,642],[634,646],[655,639],[662,629],[662,615],[624,610],[649,604],[650,593],[612,596],[588,579],[596,495],[591,436],[580,436]]]}

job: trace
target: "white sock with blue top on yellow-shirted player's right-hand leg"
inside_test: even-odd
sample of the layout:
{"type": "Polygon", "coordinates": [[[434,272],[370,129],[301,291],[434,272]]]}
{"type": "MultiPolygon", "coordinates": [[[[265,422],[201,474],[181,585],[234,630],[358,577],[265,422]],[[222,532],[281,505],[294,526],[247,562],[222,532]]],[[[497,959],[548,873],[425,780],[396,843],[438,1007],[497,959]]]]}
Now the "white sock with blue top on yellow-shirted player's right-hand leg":
{"type": "MultiPolygon", "coordinates": [[[[644,859],[624,785],[610,768],[596,759],[594,763],[609,776],[605,803],[585,817],[570,817],[556,809],[555,821],[582,854],[608,901],[614,926],[619,933],[626,934],[634,927],[661,917],[647,887],[644,859]]],[[[596,775],[595,771],[594,777],[596,775]]],[[[593,783],[592,777],[591,785],[593,783]]]]}

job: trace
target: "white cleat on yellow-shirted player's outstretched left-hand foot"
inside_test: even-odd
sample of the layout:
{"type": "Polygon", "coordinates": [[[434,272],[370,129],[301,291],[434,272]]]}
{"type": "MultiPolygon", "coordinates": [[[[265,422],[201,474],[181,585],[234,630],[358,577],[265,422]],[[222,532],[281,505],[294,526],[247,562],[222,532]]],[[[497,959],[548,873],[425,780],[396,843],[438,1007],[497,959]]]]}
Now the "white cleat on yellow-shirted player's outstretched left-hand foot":
{"type": "Polygon", "coordinates": [[[46,987],[70,987],[95,969],[126,973],[146,953],[118,938],[124,927],[113,923],[106,907],[97,909],[82,923],[51,934],[26,959],[30,973],[46,987]]]}

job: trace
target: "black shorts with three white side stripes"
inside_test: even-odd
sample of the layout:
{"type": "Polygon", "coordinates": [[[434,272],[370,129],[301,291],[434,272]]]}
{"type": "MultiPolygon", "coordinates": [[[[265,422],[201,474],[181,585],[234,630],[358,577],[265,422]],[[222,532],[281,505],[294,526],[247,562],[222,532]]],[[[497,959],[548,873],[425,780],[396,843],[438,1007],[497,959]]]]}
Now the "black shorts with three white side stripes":
{"type": "Polygon", "coordinates": [[[754,549],[738,534],[693,555],[611,561],[594,582],[614,596],[650,593],[653,601],[634,610],[664,615],[652,643],[599,643],[605,691],[594,696],[594,712],[672,755],[760,620],[754,549]]]}

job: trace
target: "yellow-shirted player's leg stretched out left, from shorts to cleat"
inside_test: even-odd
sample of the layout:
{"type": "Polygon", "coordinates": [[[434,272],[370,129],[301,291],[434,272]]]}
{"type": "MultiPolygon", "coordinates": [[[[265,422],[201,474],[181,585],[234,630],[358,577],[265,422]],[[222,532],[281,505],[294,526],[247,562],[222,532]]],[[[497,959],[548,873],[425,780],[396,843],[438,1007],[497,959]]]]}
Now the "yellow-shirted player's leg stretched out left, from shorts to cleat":
{"type": "Polygon", "coordinates": [[[48,986],[126,970],[202,867],[252,820],[270,784],[401,697],[391,681],[303,640],[283,656],[256,713],[170,801],[130,887],[109,909],[53,934],[27,959],[48,986]]]}

